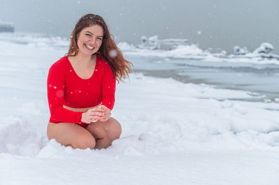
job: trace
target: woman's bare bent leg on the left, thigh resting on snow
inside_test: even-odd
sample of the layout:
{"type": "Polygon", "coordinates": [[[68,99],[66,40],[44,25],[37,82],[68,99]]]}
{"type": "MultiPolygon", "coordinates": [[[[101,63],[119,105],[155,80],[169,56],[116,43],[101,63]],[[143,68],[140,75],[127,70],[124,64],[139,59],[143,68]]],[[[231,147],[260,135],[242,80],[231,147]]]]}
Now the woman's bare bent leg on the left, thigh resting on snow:
{"type": "Polygon", "coordinates": [[[89,147],[92,150],[96,145],[96,141],[89,131],[69,122],[58,124],[50,122],[47,125],[47,137],[49,140],[54,138],[61,145],[70,146],[74,149],[89,147]]]}

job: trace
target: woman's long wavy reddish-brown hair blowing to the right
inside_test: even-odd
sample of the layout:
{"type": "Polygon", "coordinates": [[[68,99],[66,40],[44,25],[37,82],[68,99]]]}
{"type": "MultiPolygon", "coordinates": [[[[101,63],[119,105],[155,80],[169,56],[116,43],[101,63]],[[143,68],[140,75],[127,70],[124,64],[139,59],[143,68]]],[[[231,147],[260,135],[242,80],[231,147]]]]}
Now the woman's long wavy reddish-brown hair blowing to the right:
{"type": "Polygon", "coordinates": [[[70,47],[65,56],[77,55],[77,35],[82,29],[94,25],[101,26],[104,33],[103,42],[98,53],[100,53],[100,56],[102,56],[112,68],[114,79],[118,82],[123,81],[131,72],[131,66],[133,66],[133,64],[123,57],[122,51],[116,46],[114,40],[112,40],[112,35],[110,35],[110,31],[107,29],[107,24],[105,24],[105,20],[103,17],[100,17],[100,15],[86,14],[78,20],[70,36],[70,47]]]}

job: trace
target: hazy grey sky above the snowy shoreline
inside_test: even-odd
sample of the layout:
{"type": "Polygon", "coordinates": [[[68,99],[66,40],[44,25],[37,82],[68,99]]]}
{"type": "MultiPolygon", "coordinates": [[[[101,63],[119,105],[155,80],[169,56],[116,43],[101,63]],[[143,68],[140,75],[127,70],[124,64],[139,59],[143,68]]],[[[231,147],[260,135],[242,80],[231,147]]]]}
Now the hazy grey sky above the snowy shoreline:
{"type": "Polygon", "coordinates": [[[73,1],[0,0],[0,19],[15,31],[69,38],[82,15],[101,15],[117,41],[140,43],[140,37],[187,38],[206,49],[248,47],[271,42],[279,53],[278,0],[73,1]],[[199,32],[200,31],[200,32],[199,32]],[[201,34],[198,34],[201,33],[201,34]]]}

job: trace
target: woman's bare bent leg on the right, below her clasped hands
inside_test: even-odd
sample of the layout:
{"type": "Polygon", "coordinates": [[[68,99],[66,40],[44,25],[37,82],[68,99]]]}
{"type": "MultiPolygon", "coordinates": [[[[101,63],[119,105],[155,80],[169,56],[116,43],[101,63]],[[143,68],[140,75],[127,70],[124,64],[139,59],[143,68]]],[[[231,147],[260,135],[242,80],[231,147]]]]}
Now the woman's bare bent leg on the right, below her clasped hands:
{"type": "Polygon", "coordinates": [[[121,135],[121,125],[114,118],[106,122],[92,122],[86,129],[96,139],[96,148],[107,148],[112,145],[112,141],[121,135]]]}

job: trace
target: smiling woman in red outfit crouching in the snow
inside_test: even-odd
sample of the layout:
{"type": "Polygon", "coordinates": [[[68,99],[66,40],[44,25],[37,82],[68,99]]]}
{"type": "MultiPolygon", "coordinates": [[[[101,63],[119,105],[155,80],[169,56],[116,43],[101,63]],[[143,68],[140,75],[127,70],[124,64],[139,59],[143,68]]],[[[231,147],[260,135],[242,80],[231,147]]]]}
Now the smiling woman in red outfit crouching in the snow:
{"type": "Polygon", "coordinates": [[[115,85],[128,76],[130,66],[104,19],[93,14],[81,17],[68,54],[50,67],[47,77],[47,137],[74,149],[112,145],[121,134],[121,125],[110,117],[115,85]]]}

